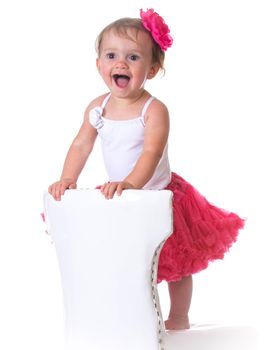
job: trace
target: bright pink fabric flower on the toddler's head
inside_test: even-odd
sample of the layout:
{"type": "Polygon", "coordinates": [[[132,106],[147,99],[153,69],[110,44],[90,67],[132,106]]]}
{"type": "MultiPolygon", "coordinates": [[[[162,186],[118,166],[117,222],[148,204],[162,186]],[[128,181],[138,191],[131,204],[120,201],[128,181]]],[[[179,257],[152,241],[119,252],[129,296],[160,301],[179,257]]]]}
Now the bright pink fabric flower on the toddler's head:
{"type": "Polygon", "coordinates": [[[173,43],[169,35],[169,28],[164,19],[153,9],[140,10],[140,17],[144,27],[151,32],[154,40],[159,44],[162,51],[166,51],[173,43]]]}

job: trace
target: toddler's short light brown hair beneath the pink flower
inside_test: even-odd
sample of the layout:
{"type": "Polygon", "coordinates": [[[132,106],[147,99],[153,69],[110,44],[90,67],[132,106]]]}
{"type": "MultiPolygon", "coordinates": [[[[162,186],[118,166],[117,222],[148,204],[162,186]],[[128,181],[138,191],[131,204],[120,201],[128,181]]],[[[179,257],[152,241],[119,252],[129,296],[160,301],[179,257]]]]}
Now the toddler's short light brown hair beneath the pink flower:
{"type": "Polygon", "coordinates": [[[152,60],[153,60],[153,64],[154,63],[158,63],[160,68],[162,70],[164,70],[164,51],[162,51],[162,49],[160,48],[160,46],[158,45],[158,43],[153,39],[151,33],[143,26],[141,19],[140,18],[129,18],[129,17],[125,17],[125,18],[120,18],[112,23],[110,23],[108,26],[106,26],[98,35],[97,39],[96,39],[96,52],[99,56],[100,53],[100,47],[102,44],[102,39],[105,33],[108,33],[110,30],[114,30],[118,35],[128,38],[130,40],[135,41],[135,38],[132,37],[131,35],[129,35],[128,31],[129,29],[135,29],[136,31],[136,38],[137,38],[137,34],[139,31],[144,32],[144,33],[148,33],[149,36],[152,39],[153,42],[153,47],[152,47],[152,60]]]}

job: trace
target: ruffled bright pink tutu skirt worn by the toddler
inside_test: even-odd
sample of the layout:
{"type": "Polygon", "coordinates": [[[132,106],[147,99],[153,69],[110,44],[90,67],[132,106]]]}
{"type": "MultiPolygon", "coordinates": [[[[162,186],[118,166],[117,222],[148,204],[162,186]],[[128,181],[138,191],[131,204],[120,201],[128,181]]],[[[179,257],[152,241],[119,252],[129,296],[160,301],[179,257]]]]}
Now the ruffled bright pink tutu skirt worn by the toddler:
{"type": "Polygon", "coordinates": [[[244,220],[207,201],[175,173],[166,189],[173,192],[173,233],[159,257],[158,282],[178,281],[223,259],[244,220]]]}

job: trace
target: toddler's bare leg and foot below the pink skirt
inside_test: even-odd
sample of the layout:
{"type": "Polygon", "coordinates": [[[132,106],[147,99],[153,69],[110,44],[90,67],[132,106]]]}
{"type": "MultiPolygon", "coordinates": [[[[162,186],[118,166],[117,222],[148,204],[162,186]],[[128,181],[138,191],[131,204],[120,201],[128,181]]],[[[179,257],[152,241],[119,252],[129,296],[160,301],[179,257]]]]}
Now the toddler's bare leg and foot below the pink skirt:
{"type": "Polygon", "coordinates": [[[190,328],[188,312],[192,299],[192,276],[168,283],[170,312],[165,321],[166,329],[181,330],[190,328]]]}

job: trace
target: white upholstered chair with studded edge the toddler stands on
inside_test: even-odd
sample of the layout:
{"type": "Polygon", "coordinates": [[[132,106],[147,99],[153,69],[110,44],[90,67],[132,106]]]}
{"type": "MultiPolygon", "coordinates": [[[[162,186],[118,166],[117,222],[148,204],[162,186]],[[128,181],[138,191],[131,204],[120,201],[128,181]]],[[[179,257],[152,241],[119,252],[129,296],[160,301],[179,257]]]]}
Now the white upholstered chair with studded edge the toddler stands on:
{"type": "Polygon", "coordinates": [[[44,197],[65,306],[66,350],[256,350],[250,327],[165,332],[157,259],[172,233],[170,191],[99,190],[44,197]],[[151,282],[151,277],[153,283],[151,282]]]}

